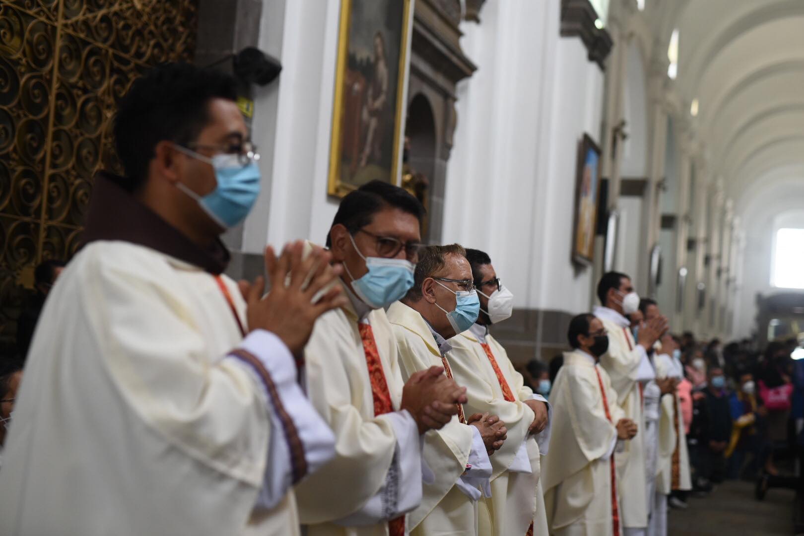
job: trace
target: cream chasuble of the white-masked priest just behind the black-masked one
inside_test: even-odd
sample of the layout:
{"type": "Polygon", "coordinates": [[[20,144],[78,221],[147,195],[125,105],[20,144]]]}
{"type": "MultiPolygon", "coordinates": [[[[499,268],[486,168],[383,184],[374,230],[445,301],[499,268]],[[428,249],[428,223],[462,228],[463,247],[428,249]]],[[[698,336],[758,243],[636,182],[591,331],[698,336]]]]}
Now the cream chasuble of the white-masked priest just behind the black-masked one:
{"type": "Polygon", "coordinates": [[[617,392],[617,404],[639,431],[627,441],[624,452],[617,453],[620,478],[621,518],[626,528],[645,528],[648,521],[645,476],[645,419],[642,416],[641,383],[654,378],[646,351],[634,342],[628,320],[613,309],[596,307],[594,315],[603,322],[609,335],[609,351],[600,358],[600,366],[617,392]]]}

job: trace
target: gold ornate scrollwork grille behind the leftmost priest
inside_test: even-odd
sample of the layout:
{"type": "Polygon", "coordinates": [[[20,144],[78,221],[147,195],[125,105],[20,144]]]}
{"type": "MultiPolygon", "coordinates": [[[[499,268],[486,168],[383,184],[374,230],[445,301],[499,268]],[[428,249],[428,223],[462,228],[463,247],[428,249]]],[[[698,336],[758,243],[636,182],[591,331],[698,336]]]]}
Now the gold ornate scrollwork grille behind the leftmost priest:
{"type": "Polygon", "coordinates": [[[41,260],[80,242],[92,175],[117,169],[117,100],[190,60],[197,0],[0,0],[0,342],[41,260]]]}

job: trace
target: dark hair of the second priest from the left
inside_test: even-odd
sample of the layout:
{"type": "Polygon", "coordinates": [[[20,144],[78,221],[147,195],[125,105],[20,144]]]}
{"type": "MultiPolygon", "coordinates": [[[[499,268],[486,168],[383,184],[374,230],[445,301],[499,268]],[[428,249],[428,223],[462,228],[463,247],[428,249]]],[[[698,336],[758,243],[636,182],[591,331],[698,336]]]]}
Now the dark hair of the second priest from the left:
{"type": "MultiPolygon", "coordinates": [[[[425,207],[418,199],[408,194],[407,190],[388,182],[374,180],[350,192],[341,200],[330,228],[340,223],[351,234],[355,234],[370,224],[377,212],[388,207],[398,208],[416,216],[420,224],[425,218],[425,207]]],[[[326,247],[331,246],[332,238],[327,233],[326,247]]]]}

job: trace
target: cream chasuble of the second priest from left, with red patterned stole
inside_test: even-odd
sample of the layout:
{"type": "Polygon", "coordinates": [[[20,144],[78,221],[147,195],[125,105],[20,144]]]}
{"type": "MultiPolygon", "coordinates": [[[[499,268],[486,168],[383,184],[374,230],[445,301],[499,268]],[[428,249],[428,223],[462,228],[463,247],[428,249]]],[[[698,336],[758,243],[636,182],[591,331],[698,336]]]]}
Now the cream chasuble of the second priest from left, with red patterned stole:
{"type": "MultiPolygon", "coordinates": [[[[400,406],[396,341],[384,310],[368,308],[344,288],[351,304],[320,317],[305,349],[307,395],[335,434],[336,455],[297,486],[301,523],[308,536],[396,536],[388,522],[421,500],[420,436],[408,411],[375,414],[372,385],[379,378],[392,407],[400,406]],[[379,354],[371,376],[365,326],[379,354]]],[[[412,524],[404,525],[407,534],[412,524]]]]}

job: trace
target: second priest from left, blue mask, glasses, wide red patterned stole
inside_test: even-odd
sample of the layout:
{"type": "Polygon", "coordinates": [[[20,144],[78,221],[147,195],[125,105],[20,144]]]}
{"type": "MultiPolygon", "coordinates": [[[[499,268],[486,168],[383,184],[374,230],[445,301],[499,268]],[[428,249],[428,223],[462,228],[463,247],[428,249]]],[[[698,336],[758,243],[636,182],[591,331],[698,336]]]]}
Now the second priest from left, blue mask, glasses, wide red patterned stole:
{"type": "Polygon", "coordinates": [[[406,514],[433,480],[420,437],[466,401],[441,366],[404,381],[383,309],[412,286],[423,214],[412,195],[375,181],[343,198],[330,228],[349,303],[318,320],[305,350],[307,394],[336,437],[334,460],[296,489],[309,536],[409,534],[406,514]]]}

